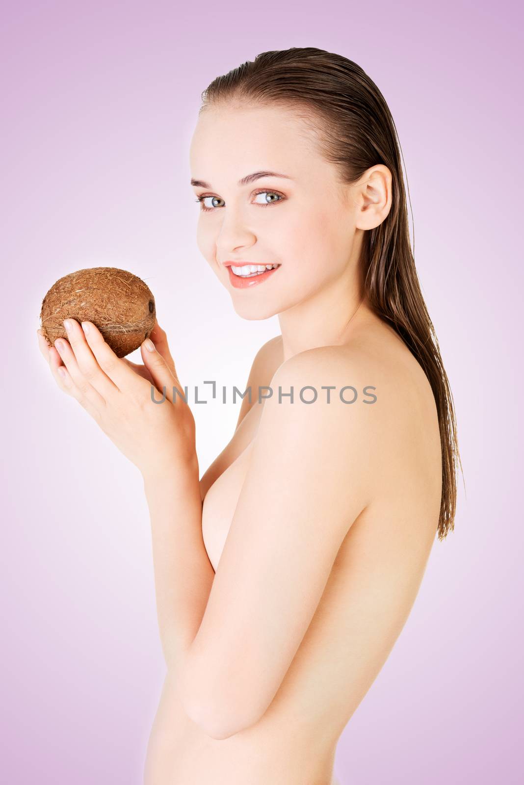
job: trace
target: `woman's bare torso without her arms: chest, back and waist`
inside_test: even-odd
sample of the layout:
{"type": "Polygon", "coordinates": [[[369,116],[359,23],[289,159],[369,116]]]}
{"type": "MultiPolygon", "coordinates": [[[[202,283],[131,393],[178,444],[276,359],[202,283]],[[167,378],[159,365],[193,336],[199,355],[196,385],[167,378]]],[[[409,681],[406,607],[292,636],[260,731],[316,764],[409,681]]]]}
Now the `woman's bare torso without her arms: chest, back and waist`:
{"type": "MultiPolygon", "coordinates": [[[[424,371],[378,319],[358,342],[371,363],[369,384],[376,385],[377,396],[381,389],[397,395],[400,413],[391,430],[384,429],[373,502],[349,528],[297,655],[256,725],[227,739],[206,736],[187,717],[166,677],[147,747],[145,785],[332,782],[340,734],[417,597],[442,490],[437,413],[424,371]]],[[[344,346],[340,352],[343,359],[344,346]]],[[[201,480],[202,535],[215,570],[264,407],[256,402],[257,386],[269,385],[282,363],[280,338],[267,343],[263,360],[252,380],[252,407],[244,400],[233,438],[201,480]]]]}

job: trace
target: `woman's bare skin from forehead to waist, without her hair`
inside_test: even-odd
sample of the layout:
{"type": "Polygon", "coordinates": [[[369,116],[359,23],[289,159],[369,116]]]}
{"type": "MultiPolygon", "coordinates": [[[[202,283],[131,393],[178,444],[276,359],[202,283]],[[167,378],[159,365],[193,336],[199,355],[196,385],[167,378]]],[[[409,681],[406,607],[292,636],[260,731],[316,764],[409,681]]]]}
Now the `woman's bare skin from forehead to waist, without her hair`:
{"type": "MultiPolygon", "coordinates": [[[[105,363],[122,394],[107,389],[97,422],[135,459],[151,499],[162,499],[158,575],[175,588],[169,594],[166,583],[157,597],[162,619],[174,611],[165,640],[179,650],[169,658],[144,785],[329,785],[340,733],[417,597],[442,492],[428,379],[373,312],[359,272],[364,232],[391,209],[391,173],[377,165],[343,184],[292,112],[235,106],[198,119],[191,175],[208,207],[198,221],[202,255],[242,319],[277,315],[282,333],[257,353],[253,403],[243,401],[230,443],[199,480],[198,502],[184,508],[198,536],[191,529],[185,537],[180,510],[176,520],[163,514],[175,502],[162,466],[180,452],[187,460],[176,474],[193,466],[191,413],[151,419],[136,442],[129,429],[142,382],[179,383],[163,330],[155,328],[157,352],[143,349],[139,367],[116,362],[94,331],[87,346],[76,325],[74,353],[61,354],[71,373],[66,388],[56,349],[42,353],[56,382],[86,407],[84,374],[95,389],[107,388],[96,361],[105,363]],[[261,170],[289,178],[238,184],[261,170]],[[280,197],[271,206],[269,194],[280,197]],[[281,266],[238,289],[228,260],[281,266]],[[259,385],[274,391],[261,403],[259,385]],[[293,386],[295,403],[278,401],[278,385],[293,386]],[[305,385],[318,391],[309,406],[298,400],[305,385]],[[329,404],[322,385],[335,388],[329,404]],[[340,400],[346,385],[358,391],[355,403],[344,403],[351,390],[340,400]],[[372,405],[362,402],[366,385],[377,396],[372,405]],[[168,442],[157,434],[166,429],[178,444],[158,455],[155,445],[168,442]]],[[[190,478],[188,500],[198,495],[193,485],[190,478]]]]}

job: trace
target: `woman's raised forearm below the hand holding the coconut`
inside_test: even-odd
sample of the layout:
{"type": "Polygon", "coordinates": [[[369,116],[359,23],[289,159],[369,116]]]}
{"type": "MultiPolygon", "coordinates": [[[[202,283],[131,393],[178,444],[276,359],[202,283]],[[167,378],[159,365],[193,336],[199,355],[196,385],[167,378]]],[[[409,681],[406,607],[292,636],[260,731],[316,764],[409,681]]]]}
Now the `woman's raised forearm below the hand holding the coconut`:
{"type": "Polygon", "coordinates": [[[158,627],[168,672],[179,670],[206,610],[214,571],[202,539],[195,455],[183,471],[144,476],[151,517],[158,627]]]}

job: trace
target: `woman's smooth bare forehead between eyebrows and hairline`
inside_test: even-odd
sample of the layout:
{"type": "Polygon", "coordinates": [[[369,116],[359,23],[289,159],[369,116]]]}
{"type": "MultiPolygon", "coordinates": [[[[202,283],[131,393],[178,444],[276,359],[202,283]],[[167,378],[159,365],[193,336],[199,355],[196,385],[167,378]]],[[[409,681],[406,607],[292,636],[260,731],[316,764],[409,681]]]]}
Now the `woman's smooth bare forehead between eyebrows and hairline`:
{"type": "Polygon", "coordinates": [[[238,180],[256,170],[274,170],[294,177],[322,161],[315,133],[285,108],[209,108],[198,117],[190,147],[191,177],[238,180]]]}

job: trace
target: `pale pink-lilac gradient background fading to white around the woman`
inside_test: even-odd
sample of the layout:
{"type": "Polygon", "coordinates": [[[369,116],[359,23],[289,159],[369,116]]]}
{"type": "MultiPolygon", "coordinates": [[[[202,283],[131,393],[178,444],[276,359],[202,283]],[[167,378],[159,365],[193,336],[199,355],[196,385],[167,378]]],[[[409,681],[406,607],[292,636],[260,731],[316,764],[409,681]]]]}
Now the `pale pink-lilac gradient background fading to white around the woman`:
{"type": "MultiPolygon", "coordinates": [[[[184,383],[242,389],[278,320],[242,321],[200,256],[189,142],[215,76],[317,46],[362,65],[395,118],[466,482],[336,772],[342,785],[522,782],[518,5],[2,7],[0,780],[140,785],[165,674],[140,474],[56,388],[35,336],[42,298],[75,269],[127,268],[155,294],[184,383]]],[[[201,473],[239,405],[192,407],[201,473]]]]}

